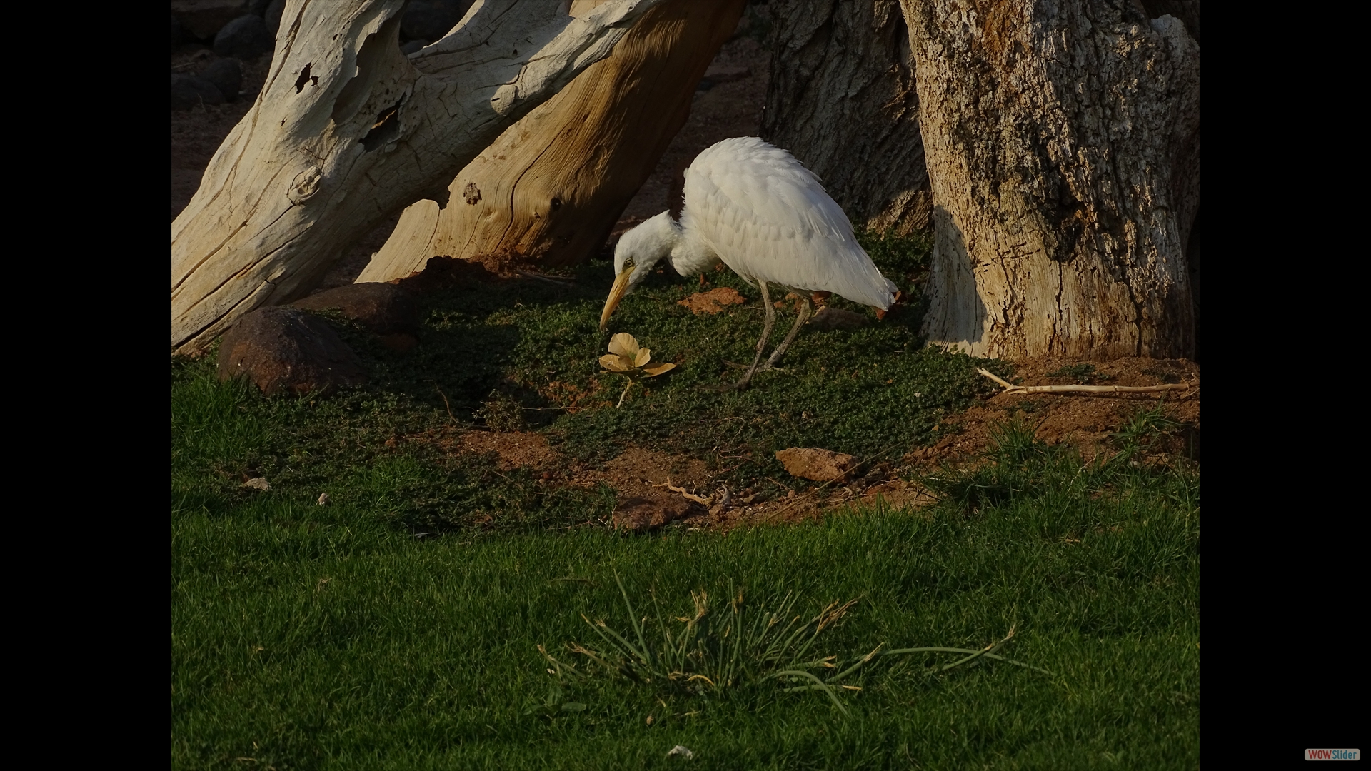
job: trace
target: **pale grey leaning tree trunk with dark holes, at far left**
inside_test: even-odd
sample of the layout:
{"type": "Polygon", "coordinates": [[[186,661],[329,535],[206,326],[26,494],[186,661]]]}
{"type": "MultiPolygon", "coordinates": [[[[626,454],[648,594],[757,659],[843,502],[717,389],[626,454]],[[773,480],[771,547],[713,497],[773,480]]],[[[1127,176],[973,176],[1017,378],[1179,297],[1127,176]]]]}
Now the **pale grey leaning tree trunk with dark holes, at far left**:
{"type": "Polygon", "coordinates": [[[289,0],[266,86],[171,224],[171,346],[202,351],[243,313],[306,294],[659,1],[570,19],[561,3],[481,0],[406,59],[404,0],[289,0]]]}

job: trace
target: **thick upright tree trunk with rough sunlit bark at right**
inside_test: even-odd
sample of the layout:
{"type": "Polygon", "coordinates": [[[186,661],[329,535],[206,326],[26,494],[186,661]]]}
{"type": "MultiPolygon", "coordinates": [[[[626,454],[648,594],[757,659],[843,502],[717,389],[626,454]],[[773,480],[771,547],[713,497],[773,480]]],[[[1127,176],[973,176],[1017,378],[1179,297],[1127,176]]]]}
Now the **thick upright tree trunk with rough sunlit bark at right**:
{"type": "Polygon", "coordinates": [[[975,355],[1193,357],[1200,45],[1105,0],[902,0],[932,184],[924,333],[975,355]]]}

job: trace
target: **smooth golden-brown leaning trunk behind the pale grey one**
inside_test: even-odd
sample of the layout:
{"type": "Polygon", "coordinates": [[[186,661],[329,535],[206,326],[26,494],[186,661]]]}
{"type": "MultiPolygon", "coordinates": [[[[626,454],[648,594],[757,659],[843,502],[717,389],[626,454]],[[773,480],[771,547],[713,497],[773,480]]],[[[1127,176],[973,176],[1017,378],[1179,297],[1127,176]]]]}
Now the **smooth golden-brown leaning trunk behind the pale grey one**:
{"type": "MultiPolygon", "coordinates": [[[[600,3],[579,0],[572,15],[600,3]]],[[[666,0],[651,10],[610,56],[458,171],[448,206],[406,209],[358,281],[400,278],[437,255],[547,266],[590,258],[686,123],[743,4],[666,0]]]]}

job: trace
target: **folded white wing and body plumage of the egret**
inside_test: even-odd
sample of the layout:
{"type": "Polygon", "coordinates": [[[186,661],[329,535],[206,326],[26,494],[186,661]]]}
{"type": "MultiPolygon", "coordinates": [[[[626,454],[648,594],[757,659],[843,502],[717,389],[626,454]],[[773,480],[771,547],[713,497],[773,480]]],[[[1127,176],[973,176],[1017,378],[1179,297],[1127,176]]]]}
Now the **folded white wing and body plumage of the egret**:
{"type": "Polygon", "coordinates": [[[740,276],[888,309],[895,285],[813,171],[755,137],[724,140],[686,174],[681,225],[740,276]]]}

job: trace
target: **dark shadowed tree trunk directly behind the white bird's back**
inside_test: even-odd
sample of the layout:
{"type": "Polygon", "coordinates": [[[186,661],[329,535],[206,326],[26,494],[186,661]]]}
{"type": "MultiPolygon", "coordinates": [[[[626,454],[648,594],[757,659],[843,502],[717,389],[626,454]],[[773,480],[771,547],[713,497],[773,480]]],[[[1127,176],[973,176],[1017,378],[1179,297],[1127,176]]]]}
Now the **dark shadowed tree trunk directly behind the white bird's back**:
{"type": "Polygon", "coordinates": [[[928,226],[919,95],[898,0],[786,0],[761,134],[824,181],[856,225],[928,226]]]}

